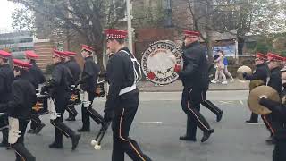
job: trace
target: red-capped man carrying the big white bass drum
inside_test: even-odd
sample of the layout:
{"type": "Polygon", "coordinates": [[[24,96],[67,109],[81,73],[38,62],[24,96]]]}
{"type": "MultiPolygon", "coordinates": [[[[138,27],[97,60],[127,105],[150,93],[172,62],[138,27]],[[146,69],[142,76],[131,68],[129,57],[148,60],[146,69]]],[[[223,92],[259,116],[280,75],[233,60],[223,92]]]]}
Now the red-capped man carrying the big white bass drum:
{"type": "Polygon", "coordinates": [[[185,41],[183,47],[184,67],[182,70],[175,69],[181,77],[184,86],[181,106],[187,114],[187,132],[180,140],[196,141],[197,126],[204,131],[201,142],[205,142],[214,129],[210,128],[205,117],[199,113],[203,93],[208,86],[208,73],[206,52],[198,42],[200,33],[197,31],[184,30],[185,41]]]}

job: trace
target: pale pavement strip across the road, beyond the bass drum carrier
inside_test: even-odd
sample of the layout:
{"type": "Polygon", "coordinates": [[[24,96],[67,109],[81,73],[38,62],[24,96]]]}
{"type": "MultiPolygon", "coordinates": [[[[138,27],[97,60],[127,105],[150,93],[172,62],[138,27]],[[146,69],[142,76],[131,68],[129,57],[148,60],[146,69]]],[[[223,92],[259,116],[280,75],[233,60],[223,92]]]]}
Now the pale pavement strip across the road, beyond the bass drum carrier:
{"type": "MultiPolygon", "coordinates": [[[[209,90],[248,90],[249,81],[242,81],[235,79],[233,82],[228,80],[228,84],[210,83],[209,90]]],[[[164,86],[155,86],[154,83],[148,80],[142,80],[139,82],[139,90],[146,92],[172,92],[182,91],[183,87],[181,80],[176,80],[171,84],[164,86]]]]}

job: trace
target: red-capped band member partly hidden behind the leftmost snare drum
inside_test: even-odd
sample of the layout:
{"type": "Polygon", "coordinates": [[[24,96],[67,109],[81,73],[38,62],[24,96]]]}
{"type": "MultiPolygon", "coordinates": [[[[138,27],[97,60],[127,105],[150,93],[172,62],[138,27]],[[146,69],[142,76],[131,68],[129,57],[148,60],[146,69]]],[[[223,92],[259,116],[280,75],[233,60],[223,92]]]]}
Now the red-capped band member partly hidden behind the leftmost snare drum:
{"type": "MultiPolygon", "coordinates": [[[[38,55],[33,51],[26,51],[26,59],[29,61],[29,64],[32,64],[32,67],[29,69],[29,81],[34,85],[35,89],[38,89],[39,84],[43,84],[46,81],[44,73],[38,68],[36,64],[36,59],[38,55]]],[[[31,115],[30,129],[28,133],[37,134],[45,127],[45,124],[41,122],[38,117],[38,114],[31,115]]]]}

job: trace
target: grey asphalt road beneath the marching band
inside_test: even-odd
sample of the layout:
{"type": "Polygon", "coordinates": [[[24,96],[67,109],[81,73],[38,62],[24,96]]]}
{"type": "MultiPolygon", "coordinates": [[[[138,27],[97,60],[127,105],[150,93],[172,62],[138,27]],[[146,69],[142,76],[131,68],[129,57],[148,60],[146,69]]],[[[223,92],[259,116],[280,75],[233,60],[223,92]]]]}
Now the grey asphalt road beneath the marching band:
{"type": "MultiPolygon", "coordinates": [[[[200,143],[179,140],[185,133],[186,115],[181,110],[181,93],[141,93],[138,114],[130,130],[130,137],[138,140],[143,151],[155,161],[270,161],[273,146],[265,144],[269,133],[265,125],[244,123],[249,116],[246,98],[248,91],[212,91],[208,98],[223,109],[223,120],[215,122],[215,115],[201,106],[201,113],[214,128],[214,135],[200,143]]],[[[105,100],[94,102],[102,114],[105,100]]],[[[78,107],[80,112],[80,107],[78,107]]],[[[65,116],[66,118],[66,116],[65,116]]],[[[38,135],[26,135],[26,147],[37,161],[110,161],[112,131],[107,131],[101,150],[90,146],[99,126],[92,122],[92,131],[82,133],[79,147],[71,152],[71,140],[64,139],[64,148],[50,149],[54,128],[48,116],[42,116],[46,127],[38,135]]],[[[261,122],[261,121],[260,121],[261,122]]],[[[80,128],[80,115],[76,122],[67,123],[72,129],[80,128]]],[[[12,150],[0,148],[0,161],[15,160],[12,150]]],[[[129,157],[126,157],[130,161],[129,157]]]]}

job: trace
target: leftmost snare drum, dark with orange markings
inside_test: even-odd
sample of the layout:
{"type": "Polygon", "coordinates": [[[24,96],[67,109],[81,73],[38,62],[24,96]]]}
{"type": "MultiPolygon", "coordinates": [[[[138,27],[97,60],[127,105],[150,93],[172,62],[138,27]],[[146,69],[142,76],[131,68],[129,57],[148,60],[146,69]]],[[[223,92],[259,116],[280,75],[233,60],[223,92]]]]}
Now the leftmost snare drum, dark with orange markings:
{"type": "Polygon", "coordinates": [[[37,94],[37,103],[32,107],[32,114],[44,115],[48,114],[46,95],[37,94]]]}

